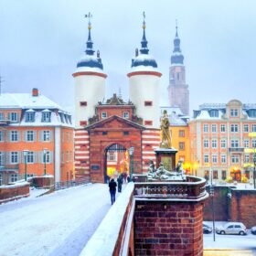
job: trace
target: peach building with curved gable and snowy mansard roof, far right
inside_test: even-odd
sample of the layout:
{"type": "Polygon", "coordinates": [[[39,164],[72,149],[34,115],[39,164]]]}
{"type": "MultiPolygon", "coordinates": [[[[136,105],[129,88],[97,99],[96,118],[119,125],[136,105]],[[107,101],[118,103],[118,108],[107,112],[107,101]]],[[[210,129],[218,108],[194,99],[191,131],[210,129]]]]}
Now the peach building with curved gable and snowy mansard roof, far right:
{"type": "Polygon", "coordinates": [[[227,104],[203,104],[194,111],[189,122],[191,162],[198,161],[198,176],[221,181],[228,176],[240,181],[245,175],[252,179],[255,149],[256,105],[238,100],[227,104]]]}

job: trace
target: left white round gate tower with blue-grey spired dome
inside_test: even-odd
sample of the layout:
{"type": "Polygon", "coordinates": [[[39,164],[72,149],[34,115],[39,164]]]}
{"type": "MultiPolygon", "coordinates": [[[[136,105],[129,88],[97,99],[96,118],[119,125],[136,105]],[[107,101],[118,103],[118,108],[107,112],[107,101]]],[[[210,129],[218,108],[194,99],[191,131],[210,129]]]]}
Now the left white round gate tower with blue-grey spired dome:
{"type": "Polygon", "coordinates": [[[89,21],[89,36],[85,55],[77,64],[73,73],[75,79],[75,129],[83,128],[88,124],[88,119],[95,113],[95,106],[98,101],[105,97],[105,79],[103,73],[100,52],[94,55],[91,40],[91,22],[89,21]]]}

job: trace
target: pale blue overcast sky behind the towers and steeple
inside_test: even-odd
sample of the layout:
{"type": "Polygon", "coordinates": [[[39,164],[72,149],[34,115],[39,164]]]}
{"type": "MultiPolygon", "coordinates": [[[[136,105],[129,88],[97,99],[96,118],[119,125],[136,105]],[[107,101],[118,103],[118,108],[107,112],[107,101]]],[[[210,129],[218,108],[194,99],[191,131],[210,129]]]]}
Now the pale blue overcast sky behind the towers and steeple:
{"type": "Polygon", "coordinates": [[[204,102],[255,103],[254,0],[0,0],[0,72],[3,92],[33,87],[61,106],[72,106],[72,73],[85,50],[88,21],[108,75],[107,97],[122,88],[127,99],[134,49],[140,48],[143,12],[150,54],[160,71],[162,105],[176,32],[187,69],[190,112],[204,102]]]}

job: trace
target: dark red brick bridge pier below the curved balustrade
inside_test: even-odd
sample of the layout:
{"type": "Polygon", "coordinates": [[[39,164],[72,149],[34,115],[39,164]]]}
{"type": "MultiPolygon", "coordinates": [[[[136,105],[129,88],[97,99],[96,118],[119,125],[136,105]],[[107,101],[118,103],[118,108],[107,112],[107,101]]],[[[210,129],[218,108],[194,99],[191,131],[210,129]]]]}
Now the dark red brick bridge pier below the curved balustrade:
{"type": "Polygon", "coordinates": [[[136,201],[135,255],[203,255],[203,203],[136,201]]]}

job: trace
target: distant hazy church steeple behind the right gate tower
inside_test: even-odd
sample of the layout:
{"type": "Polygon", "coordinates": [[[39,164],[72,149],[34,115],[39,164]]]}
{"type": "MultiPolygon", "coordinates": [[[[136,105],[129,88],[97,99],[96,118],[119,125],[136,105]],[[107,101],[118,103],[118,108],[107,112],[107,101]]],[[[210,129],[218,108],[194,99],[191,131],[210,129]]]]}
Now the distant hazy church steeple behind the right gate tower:
{"type": "Polygon", "coordinates": [[[180,49],[180,39],[176,27],[174,50],[171,56],[171,67],[169,69],[168,98],[171,107],[179,107],[184,114],[189,115],[189,91],[186,83],[186,69],[183,60],[184,56],[180,49]]]}

